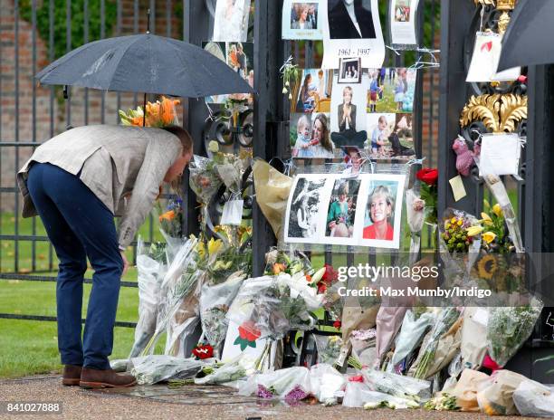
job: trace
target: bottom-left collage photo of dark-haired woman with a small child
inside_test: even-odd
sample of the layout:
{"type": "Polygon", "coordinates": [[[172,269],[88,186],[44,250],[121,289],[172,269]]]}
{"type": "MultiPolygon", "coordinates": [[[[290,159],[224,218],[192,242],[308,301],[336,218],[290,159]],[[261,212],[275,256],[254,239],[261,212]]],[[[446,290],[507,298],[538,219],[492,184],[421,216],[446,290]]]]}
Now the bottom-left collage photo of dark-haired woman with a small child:
{"type": "Polygon", "coordinates": [[[322,112],[291,115],[290,138],[294,158],[332,158],[330,116],[322,112]]]}

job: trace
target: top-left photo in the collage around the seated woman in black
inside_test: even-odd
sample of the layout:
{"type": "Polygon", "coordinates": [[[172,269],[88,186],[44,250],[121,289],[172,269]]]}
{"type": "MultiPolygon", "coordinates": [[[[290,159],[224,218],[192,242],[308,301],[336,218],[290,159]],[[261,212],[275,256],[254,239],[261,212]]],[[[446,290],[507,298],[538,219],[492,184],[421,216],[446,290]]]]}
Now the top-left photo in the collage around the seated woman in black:
{"type": "Polygon", "coordinates": [[[298,89],[296,112],[330,112],[333,71],[304,69],[298,89]]]}

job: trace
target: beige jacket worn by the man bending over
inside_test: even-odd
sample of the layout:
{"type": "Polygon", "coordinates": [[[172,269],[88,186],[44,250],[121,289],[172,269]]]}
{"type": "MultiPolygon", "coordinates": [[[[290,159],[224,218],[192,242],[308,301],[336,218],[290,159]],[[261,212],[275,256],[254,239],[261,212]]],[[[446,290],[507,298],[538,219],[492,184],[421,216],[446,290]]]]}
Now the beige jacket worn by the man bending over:
{"type": "Polygon", "coordinates": [[[73,175],[81,171],[83,184],[121,217],[119,246],[128,246],[181,151],[177,136],[163,129],[108,125],[70,129],[36,148],[18,172],[17,184],[24,196],[22,214],[36,215],[26,186],[31,162],[51,163],[73,175]]]}

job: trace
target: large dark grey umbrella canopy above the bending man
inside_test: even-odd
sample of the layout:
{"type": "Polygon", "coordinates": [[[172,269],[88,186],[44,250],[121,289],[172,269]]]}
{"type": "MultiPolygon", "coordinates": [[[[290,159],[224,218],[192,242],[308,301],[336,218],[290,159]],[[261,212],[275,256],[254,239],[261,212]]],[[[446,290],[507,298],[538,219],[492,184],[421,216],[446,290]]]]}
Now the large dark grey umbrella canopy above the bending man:
{"type": "Polygon", "coordinates": [[[35,77],[43,84],[185,98],[253,93],[238,72],[211,53],[150,33],[86,43],[35,77]]]}

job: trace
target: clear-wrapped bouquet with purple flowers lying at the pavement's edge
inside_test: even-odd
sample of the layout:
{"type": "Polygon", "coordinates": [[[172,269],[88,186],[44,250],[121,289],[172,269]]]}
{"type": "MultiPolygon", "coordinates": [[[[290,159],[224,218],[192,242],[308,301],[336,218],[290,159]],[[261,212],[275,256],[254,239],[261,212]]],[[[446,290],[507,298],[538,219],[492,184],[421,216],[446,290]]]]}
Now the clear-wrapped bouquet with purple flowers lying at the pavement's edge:
{"type": "Polygon", "coordinates": [[[239,395],[260,398],[278,398],[293,403],[311,394],[310,370],[306,367],[288,367],[248,377],[239,386],[239,395]]]}

